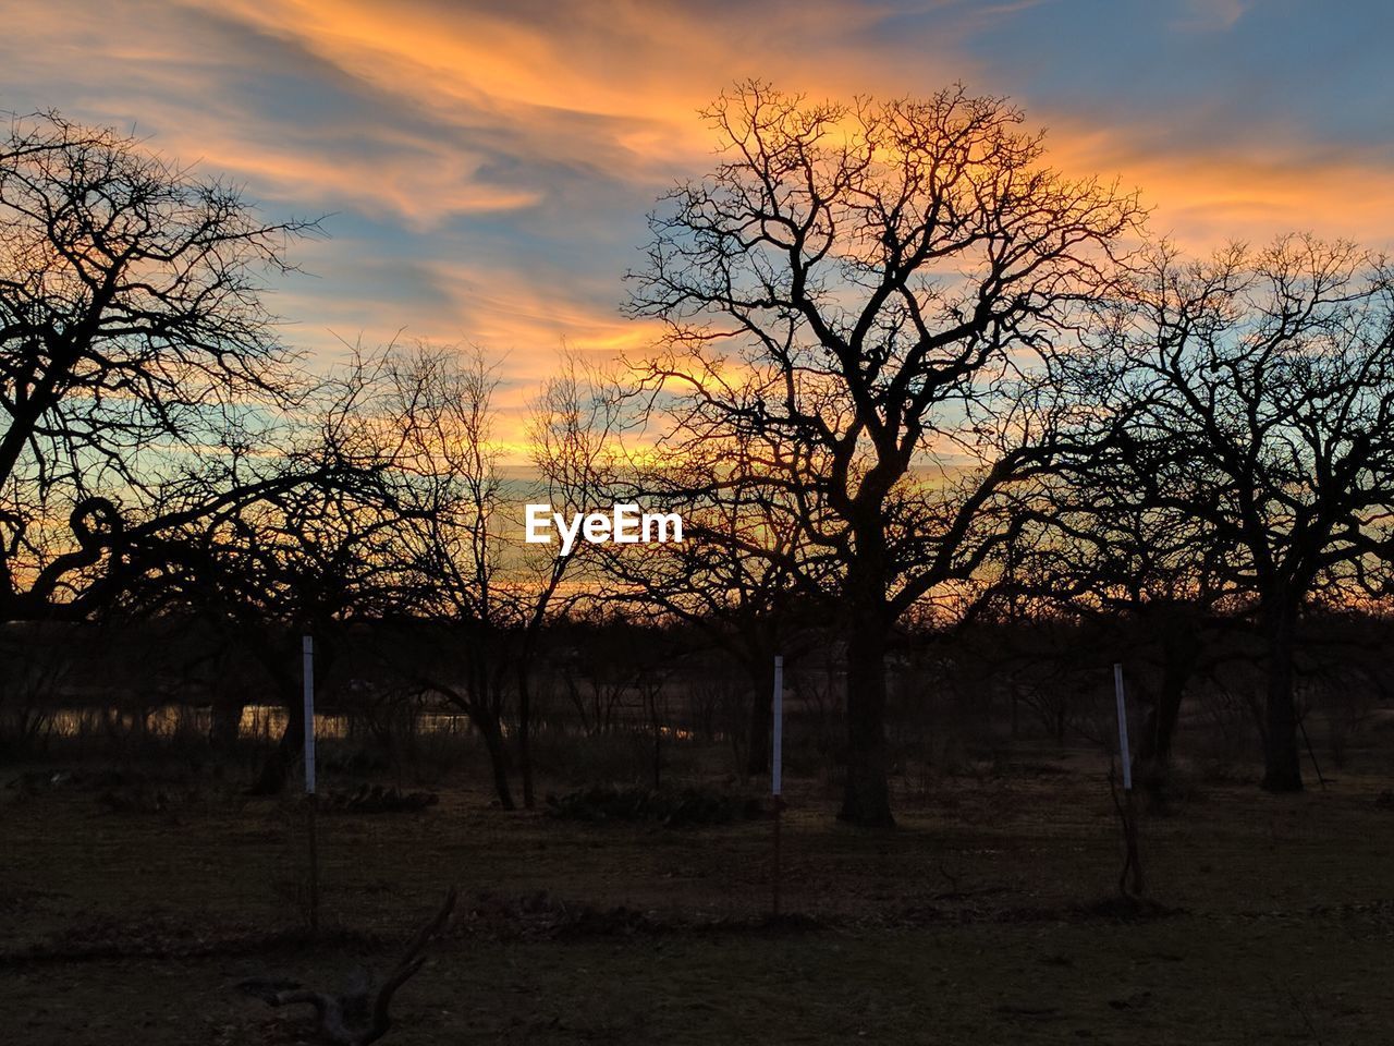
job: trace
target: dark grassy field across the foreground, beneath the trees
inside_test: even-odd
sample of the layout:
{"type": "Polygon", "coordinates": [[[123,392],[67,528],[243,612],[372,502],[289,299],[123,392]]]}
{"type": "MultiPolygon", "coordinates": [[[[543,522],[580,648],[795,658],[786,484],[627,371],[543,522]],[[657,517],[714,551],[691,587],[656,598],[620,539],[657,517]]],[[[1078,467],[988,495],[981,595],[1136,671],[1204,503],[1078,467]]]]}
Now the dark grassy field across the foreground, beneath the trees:
{"type": "Polygon", "coordinates": [[[1204,784],[1147,817],[1142,916],[1112,900],[1086,753],[902,794],[889,834],[835,824],[828,789],[796,780],[779,923],[768,820],[580,824],[447,785],[421,813],[321,816],[314,939],[296,803],[206,770],[52,770],[0,792],[20,1045],[311,1042],[307,1014],[237,983],[390,965],[452,883],[389,1045],[1394,1042],[1394,809],[1373,774],[1287,798],[1204,784]]]}

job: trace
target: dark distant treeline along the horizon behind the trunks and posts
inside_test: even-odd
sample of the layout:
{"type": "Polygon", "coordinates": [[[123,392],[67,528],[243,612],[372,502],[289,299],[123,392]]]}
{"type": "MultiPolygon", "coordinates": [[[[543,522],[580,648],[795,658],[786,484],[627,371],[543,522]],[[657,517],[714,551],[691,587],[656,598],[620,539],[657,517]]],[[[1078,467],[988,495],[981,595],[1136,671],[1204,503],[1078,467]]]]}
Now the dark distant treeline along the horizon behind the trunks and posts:
{"type": "MultiPolygon", "coordinates": [[[[1383,655],[1391,635],[1394,621],[1366,611],[1303,619],[1299,714],[1310,757],[1327,768],[1344,766],[1352,743],[1380,728],[1379,710],[1394,693],[1394,668],[1383,655]]],[[[838,632],[806,619],[790,623],[786,636],[786,750],[796,766],[841,780],[846,681],[838,632]]],[[[498,640],[507,646],[507,637],[498,640]]],[[[477,669],[470,651],[478,647],[453,622],[342,623],[318,635],[315,647],[316,708],[347,724],[346,736],[357,739],[351,757],[367,764],[390,761],[396,746],[431,731],[432,722],[447,722],[445,729],[457,734],[452,713],[471,727],[485,713],[496,715],[471,735],[491,759],[503,803],[514,802],[519,741],[528,727],[563,753],[567,743],[580,753],[587,739],[636,735],[629,763],[612,764],[611,773],[638,780],[662,771],[643,738],[657,746],[659,763],[665,743],[696,743],[726,750],[742,778],[768,768],[760,746],[768,745],[769,695],[758,689],[768,674],[740,665],[712,643],[710,628],[613,615],[555,621],[534,646],[526,713],[509,682],[484,708],[461,697],[477,669]],[[488,742],[491,732],[496,745],[488,742]]],[[[61,755],[70,741],[61,717],[88,710],[107,717],[85,720],[105,724],[99,736],[82,739],[89,749],[95,741],[99,753],[118,755],[123,745],[158,734],[160,724],[178,724],[170,743],[209,757],[252,755],[262,785],[270,787],[273,775],[287,773],[290,749],[300,742],[291,700],[298,690],[277,690],[298,686],[298,650],[296,635],[248,644],[181,616],[13,622],[0,629],[0,657],[17,669],[0,685],[0,752],[61,755]],[[286,658],[289,669],[270,658],[286,658]],[[268,706],[291,714],[277,715],[270,735],[248,738],[248,713],[268,706]],[[195,720],[171,710],[204,714],[195,720]]],[[[1108,749],[1115,661],[1125,667],[1139,774],[1154,795],[1165,795],[1174,757],[1242,775],[1262,742],[1263,651],[1243,621],[1197,618],[1185,608],[1150,618],[974,619],[901,630],[888,660],[888,736],[902,774],[912,767],[955,773],[974,760],[1001,759],[1018,742],[1108,749]],[[1178,742],[1184,721],[1190,725],[1179,728],[1178,742]]]]}

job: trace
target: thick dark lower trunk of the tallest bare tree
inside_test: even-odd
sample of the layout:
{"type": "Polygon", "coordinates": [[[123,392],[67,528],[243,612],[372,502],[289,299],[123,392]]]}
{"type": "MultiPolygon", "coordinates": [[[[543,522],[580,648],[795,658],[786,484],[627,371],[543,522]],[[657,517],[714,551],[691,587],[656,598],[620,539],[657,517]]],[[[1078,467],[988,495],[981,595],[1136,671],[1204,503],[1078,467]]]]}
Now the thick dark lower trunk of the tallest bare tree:
{"type": "Polygon", "coordinates": [[[856,614],[848,633],[848,781],[838,820],[888,828],[891,789],[885,745],[887,628],[878,614],[856,614]]]}

